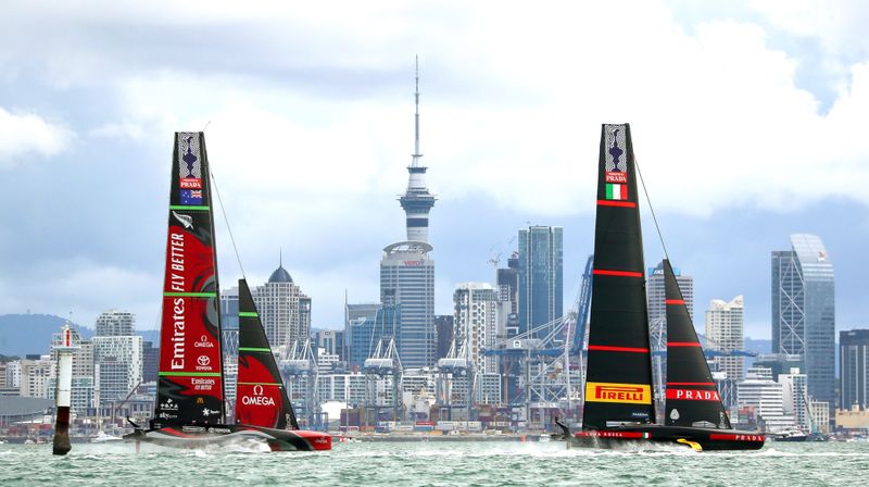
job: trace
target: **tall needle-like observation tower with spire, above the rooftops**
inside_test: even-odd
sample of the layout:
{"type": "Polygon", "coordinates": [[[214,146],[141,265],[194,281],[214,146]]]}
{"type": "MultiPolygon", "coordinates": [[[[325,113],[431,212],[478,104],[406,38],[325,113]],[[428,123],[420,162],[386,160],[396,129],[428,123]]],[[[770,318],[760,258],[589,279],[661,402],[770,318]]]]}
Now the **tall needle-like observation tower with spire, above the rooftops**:
{"type": "Polygon", "coordinates": [[[407,240],[428,242],[428,212],[434,205],[434,196],[426,187],[427,167],[419,163],[423,157],[419,153],[419,58],[416,58],[416,113],[414,114],[414,153],[411,154],[411,165],[407,166],[410,177],[407,191],[399,198],[401,208],[407,215],[407,240]]]}

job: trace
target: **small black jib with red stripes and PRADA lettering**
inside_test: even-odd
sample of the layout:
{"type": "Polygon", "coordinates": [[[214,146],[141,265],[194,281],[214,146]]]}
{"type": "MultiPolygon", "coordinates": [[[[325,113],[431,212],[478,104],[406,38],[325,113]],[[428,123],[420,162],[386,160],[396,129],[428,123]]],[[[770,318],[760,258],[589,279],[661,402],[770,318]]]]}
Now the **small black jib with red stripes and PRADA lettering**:
{"type": "Polygon", "coordinates": [[[664,260],[664,286],[667,305],[665,424],[730,429],[730,420],[725,412],[718,387],[713,380],[669,260],[664,260]]]}

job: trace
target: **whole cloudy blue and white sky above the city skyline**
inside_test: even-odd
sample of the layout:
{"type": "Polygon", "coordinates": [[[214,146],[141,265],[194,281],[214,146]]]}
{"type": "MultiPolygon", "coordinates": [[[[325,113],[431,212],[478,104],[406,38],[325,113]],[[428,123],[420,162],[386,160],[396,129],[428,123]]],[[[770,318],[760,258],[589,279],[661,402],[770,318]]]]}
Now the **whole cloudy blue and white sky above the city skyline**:
{"type": "MultiPolygon", "coordinates": [[[[420,143],[436,312],[529,224],[592,252],[600,124],[631,124],[695,324],[744,295],[770,336],[770,252],[824,241],[836,328],[869,327],[869,3],[5,1],[0,314],[108,309],[158,326],[173,134],[205,130],[224,287],[284,266],[313,326],[379,297],[420,143]]],[[[664,255],[643,208],[646,266],[664,255]]]]}

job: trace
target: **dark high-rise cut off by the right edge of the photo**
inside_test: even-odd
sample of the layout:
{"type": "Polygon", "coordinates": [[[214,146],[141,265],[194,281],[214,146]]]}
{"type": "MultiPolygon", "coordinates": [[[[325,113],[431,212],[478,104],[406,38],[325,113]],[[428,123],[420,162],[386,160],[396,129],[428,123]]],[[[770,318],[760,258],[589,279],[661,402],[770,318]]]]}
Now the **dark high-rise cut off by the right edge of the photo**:
{"type": "Polygon", "coordinates": [[[839,408],[869,407],[869,329],[839,333],[839,408]]]}

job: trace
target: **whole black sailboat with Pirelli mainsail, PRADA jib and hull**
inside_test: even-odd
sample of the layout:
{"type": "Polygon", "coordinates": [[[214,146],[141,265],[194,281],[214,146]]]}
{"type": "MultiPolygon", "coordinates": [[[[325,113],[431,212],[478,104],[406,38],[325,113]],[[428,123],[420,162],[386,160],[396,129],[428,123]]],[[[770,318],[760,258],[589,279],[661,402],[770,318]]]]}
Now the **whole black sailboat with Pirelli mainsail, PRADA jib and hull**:
{"type": "Polygon", "coordinates": [[[764,436],[731,429],[669,261],[665,424],[655,423],[642,232],[630,126],[604,125],[597,179],[585,403],[575,445],[683,444],[753,450],[764,436]]]}

